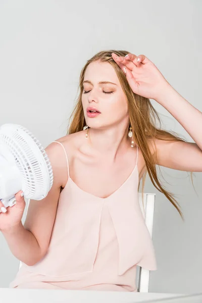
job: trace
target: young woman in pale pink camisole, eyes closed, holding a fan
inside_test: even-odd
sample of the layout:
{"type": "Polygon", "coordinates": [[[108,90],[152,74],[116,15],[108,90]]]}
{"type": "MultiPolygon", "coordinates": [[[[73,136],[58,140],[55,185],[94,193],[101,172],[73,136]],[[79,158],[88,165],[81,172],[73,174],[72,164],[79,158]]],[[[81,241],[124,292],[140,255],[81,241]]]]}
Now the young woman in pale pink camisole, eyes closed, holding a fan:
{"type": "Polygon", "coordinates": [[[10,287],[137,291],[136,266],[157,269],[138,204],[139,181],[148,172],[182,217],[156,165],[202,171],[202,113],[148,58],[126,51],[88,60],[79,87],[68,134],[46,147],[52,189],[42,201],[30,201],[24,226],[21,192],[0,214],[0,229],[23,262],[10,287]],[[149,98],[195,143],[158,128],[149,98]]]}

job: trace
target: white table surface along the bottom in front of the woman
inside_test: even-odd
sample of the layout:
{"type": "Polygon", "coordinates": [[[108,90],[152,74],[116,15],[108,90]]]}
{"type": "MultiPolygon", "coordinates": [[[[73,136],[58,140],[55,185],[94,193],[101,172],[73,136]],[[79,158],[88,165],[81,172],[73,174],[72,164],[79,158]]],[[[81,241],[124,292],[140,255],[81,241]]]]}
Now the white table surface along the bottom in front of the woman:
{"type": "Polygon", "coordinates": [[[2,303],[132,303],[149,302],[154,299],[160,302],[160,299],[163,298],[187,295],[188,294],[154,292],[0,288],[0,302],[2,303]]]}

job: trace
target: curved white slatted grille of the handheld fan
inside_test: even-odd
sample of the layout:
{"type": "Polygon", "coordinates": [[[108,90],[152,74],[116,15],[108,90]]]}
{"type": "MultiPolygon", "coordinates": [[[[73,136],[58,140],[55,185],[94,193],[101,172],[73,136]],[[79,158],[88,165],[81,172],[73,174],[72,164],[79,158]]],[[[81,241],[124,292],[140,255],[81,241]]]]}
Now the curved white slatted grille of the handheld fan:
{"type": "Polygon", "coordinates": [[[32,199],[45,197],[53,185],[53,170],[36,137],[21,125],[4,124],[0,128],[0,152],[4,146],[22,174],[24,195],[32,199]]]}

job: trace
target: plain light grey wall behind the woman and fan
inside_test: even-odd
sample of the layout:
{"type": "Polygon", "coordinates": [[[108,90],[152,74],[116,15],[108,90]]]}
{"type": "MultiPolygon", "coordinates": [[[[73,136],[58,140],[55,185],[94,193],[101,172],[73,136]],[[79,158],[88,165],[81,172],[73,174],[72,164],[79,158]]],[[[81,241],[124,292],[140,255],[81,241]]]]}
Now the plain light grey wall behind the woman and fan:
{"type": "MultiPolygon", "coordinates": [[[[201,9],[201,1],[184,0],[1,0],[0,124],[25,126],[44,147],[64,136],[80,71],[89,58],[105,49],[144,54],[202,111],[201,9]]],[[[165,108],[151,101],[163,127],[193,142],[165,108]]],[[[147,177],[144,192],[156,193],[153,241],[158,263],[158,270],[150,272],[149,291],[200,292],[202,174],[193,174],[196,194],[187,172],[161,169],[165,178],[160,176],[161,180],[180,201],[185,223],[147,177]]],[[[19,261],[2,234],[0,257],[0,287],[8,287],[19,261]]]]}

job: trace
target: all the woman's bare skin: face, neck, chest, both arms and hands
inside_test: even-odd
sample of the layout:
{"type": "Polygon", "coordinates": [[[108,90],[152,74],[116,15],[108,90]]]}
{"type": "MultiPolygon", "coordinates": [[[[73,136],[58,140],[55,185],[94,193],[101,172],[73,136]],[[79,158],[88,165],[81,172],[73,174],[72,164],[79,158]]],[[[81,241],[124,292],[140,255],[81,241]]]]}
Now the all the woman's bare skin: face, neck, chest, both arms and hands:
{"type": "MultiPolygon", "coordinates": [[[[112,54],[122,71],[126,71],[125,76],[132,91],[152,98],[164,106],[194,140],[156,140],[156,164],[176,170],[202,172],[202,113],[184,99],[144,55],[116,57],[117,55],[112,54]],[[140,59],[139,62],[137,58],[140,59]]],[[[88,139],[85,138],[85,130],[66,135],[57,141],[62,142],[67,150],[70,177],[76,185],[94,196],[106,198],[115,192],[132,172],[136,163],[136,144],[134,142],[134,147],[130,146],[131,138],[127,135],[127,103],[113,67],[109,63],[90,63],[85,72],[85,80],[92,82],[84,83],[84,90],[89,92],[82,94],[85,120],[90,127],[88,139]],[[100,85],[99,81],[111,81],[117,85],[100,85]],[[103,91],[114,92],[105,94],[103,91]],[[96,118],[88,118],[88,106],[95,106],[101,114],[96,118]]],[[[151,154],[154,155],[154,145],[152,142],[148,143],[151,154]]],[[[17,204],[8,208],[6,213],[0,214],[0,223],[13,254],[28,265],[41,260],[47,252],[60,192],[68,180],[63,148],[57,143],[51,143],[45,150],[54,170],[52,189],[43,200],[30,200],[24,228],[21,217],[25,203],[20,192],[16,197],[17,204]],[[14,229],[11,223],[15,223],[14,229]]],[[[140,149],[137,168],[140,180],[145,171],[140,149]]],[[[1,206],[3,205],[0,203],[1,206]]]]}

